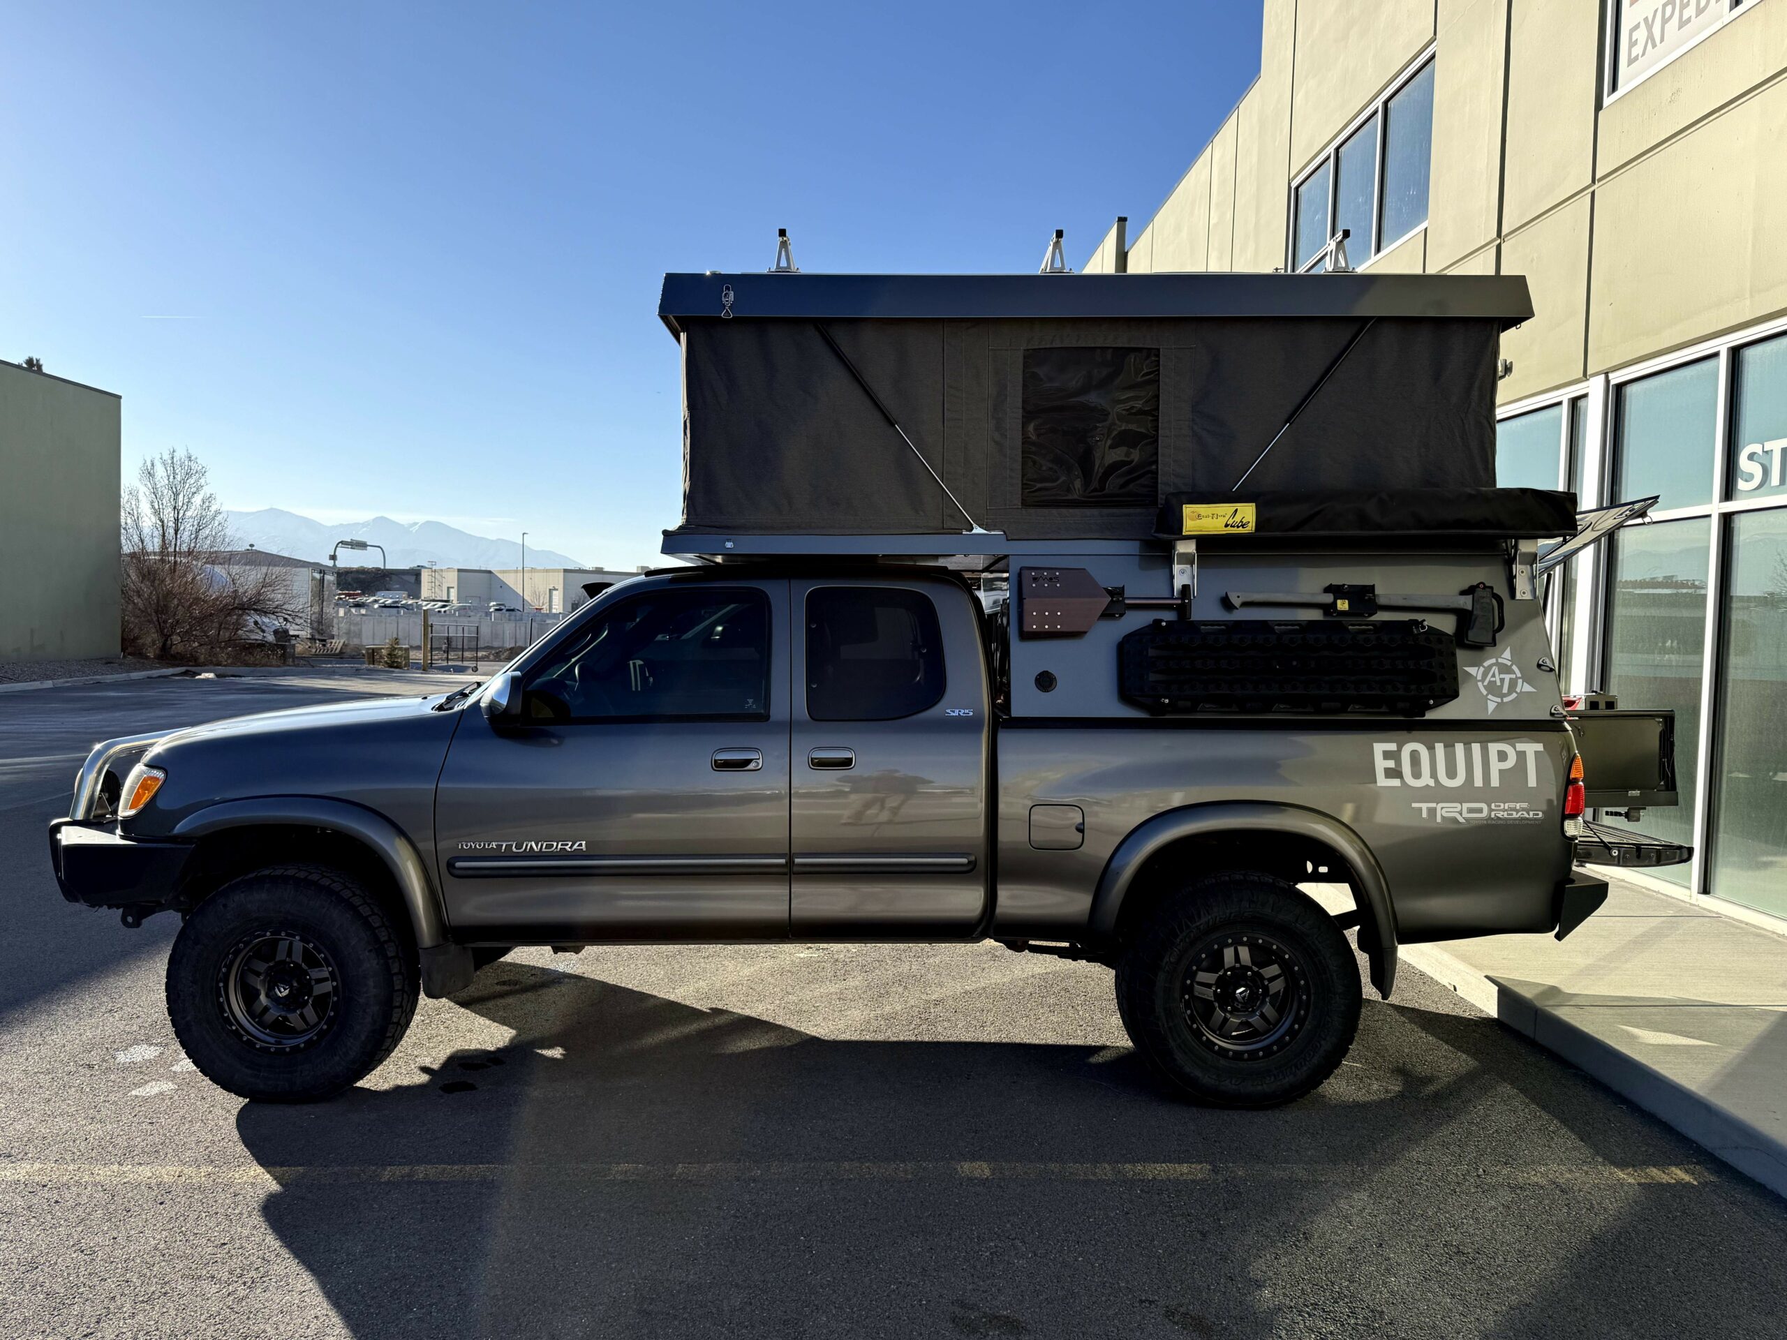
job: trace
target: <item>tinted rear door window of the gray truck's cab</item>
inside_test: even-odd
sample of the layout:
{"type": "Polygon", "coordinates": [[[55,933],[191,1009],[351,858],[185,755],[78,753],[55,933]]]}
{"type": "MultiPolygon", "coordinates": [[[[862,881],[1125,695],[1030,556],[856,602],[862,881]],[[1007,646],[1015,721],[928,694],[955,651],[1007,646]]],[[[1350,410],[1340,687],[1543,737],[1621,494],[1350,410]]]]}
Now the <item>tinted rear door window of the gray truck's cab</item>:
{"type": "Polygon", "coordinates": [[[890,722],[944,697],[944,634],[922,591],[820,586],[806,597],[806,715],[890,722]]]}

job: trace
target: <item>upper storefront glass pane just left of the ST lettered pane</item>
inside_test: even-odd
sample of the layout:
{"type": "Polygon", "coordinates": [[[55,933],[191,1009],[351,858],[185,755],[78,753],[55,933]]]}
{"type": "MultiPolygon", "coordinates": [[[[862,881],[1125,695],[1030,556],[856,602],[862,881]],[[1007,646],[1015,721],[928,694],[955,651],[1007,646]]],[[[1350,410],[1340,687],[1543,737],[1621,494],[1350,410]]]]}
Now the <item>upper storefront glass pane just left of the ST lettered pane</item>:
{"type": "Polygon", "coordinates": [[[1719,359],[1707,357],[1619,388],[1615,502],[1658,497],[1655,511],[1712,502],[1719,359]]]}

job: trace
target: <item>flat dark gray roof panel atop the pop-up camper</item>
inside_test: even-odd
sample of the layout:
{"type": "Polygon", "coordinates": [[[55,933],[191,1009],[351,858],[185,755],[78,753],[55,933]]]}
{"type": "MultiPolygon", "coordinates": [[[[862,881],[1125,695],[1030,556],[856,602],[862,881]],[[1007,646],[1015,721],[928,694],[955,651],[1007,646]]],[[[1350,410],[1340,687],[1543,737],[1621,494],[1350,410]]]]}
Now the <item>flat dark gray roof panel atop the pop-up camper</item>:
{"type": "Polygon", "coordinates": [[[1523,275],[665,275],[658,316],[1051,320],[1174,316],[1531,318],[1523,275]]]}

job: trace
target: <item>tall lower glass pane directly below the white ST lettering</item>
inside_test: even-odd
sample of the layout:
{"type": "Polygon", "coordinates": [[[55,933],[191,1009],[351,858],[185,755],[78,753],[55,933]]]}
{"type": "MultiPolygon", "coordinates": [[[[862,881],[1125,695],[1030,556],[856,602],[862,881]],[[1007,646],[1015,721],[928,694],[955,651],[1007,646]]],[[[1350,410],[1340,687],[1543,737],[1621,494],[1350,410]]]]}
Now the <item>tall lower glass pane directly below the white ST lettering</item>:
{"type": "Polygon", "coordinates": [[[1728,525],[1708,892],[1787,917],[1787,509],[1728,525]]]}

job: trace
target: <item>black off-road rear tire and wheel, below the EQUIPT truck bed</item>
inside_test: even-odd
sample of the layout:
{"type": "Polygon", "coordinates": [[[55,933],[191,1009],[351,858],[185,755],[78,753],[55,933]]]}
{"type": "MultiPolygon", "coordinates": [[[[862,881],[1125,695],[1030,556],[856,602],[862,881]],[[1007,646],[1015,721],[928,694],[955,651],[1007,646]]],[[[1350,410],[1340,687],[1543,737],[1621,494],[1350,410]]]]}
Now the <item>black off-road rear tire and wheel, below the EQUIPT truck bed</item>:
{"type": "Polygon", "coordinates": [[[1296,884],[1251,872],[1169,895],[1117,961],[1117,1011],[1137,1051],[1170,1088],[1219,1108],[1274,1108],[1321,1086],[1353,1045],[1360,999],[1333,918],[1296,884]],[[1274,1022],[1242,1022],[1237,999],[1256,1002],[1272,983],[1274,1022]]]}

